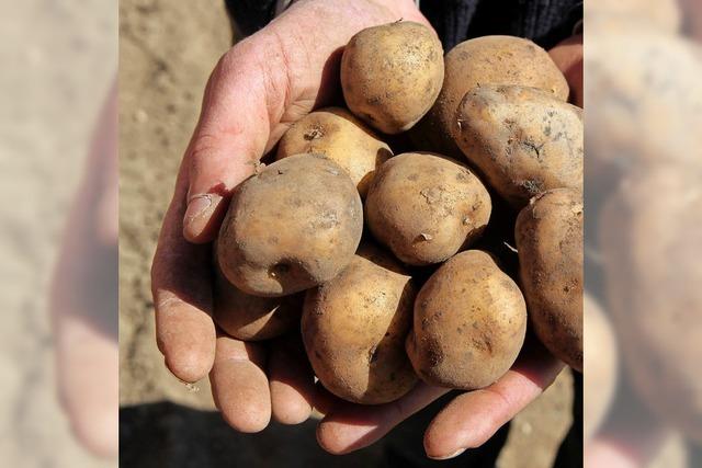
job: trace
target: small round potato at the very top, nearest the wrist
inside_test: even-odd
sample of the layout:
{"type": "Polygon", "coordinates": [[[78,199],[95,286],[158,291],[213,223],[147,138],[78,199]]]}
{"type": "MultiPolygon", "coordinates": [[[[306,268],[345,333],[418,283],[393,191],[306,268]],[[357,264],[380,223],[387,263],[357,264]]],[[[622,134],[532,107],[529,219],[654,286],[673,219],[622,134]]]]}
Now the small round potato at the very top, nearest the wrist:
{"type": "Polygon", "coordinates": [[[369,27],[341,57],[341,89],[356,116],[386,134],[415,125],[434,103],[443,81],[443,48],[433,31],[399,21],[369,27]]]}

